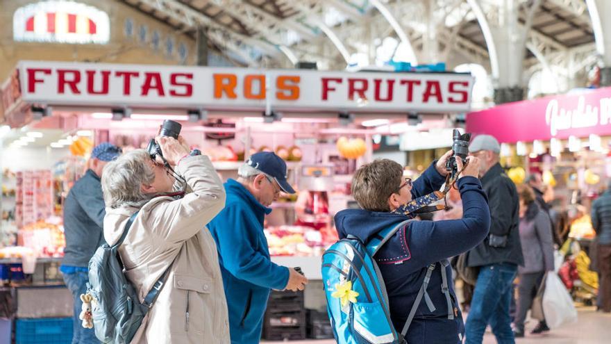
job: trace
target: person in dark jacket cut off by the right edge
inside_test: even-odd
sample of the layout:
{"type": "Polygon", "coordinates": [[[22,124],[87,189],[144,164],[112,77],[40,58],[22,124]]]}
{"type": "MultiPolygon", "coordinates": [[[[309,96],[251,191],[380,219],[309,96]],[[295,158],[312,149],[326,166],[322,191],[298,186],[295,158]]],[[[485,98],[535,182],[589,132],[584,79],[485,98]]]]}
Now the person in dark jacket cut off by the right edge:
{"type": "Polygon", "coordinates": [[[592,202],[592,227],[596,231],[596,254],[601,276],[600,308],[611,312],[611,181],[608,188],[592,202]]]}

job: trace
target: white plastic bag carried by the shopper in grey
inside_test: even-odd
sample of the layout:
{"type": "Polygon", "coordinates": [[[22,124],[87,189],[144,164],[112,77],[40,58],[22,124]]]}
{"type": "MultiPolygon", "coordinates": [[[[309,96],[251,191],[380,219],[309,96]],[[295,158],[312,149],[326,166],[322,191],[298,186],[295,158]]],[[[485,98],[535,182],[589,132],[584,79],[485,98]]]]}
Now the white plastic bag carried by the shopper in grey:
{"type": "Polygon", "coordinates": [[[554,329],[577,321],[577,310],[567,288],[555,272],[548,272],[543,295],[543,313],[547,325],[554,329]]]}

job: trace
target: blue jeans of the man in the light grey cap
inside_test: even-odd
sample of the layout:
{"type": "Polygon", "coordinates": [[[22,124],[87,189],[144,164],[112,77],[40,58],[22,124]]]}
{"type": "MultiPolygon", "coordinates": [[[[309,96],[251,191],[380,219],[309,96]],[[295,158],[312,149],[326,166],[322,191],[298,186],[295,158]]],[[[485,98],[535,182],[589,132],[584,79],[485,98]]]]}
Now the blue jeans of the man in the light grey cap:
{"type": "Polygon", "coordinates": [[[481,344],[489,324],[499,344],[514,344],[509,306],[512,282],[517,265],[510,263],[484,265],[478,280],[467,316],[466,344],[481,344]]]}

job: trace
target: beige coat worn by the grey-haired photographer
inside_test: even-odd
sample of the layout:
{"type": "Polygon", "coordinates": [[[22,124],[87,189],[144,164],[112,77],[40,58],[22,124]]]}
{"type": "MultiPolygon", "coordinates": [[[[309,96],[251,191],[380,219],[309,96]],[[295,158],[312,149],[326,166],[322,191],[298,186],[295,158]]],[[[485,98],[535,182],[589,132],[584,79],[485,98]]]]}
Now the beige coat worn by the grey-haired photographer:
{"type": "MultiPolygon", "coordinates": [[[[223,184],[207,156],[183,158],[176,172],[193,192],[178,200],[157,197],[142,206],[119,247],[140,302],[172,264],[165,286],[131,343],[230,343],[217,247],[205,227],[225,206],[223,184]]],[[[106,209],[107,243],[119,240],[136,210],[106,209]]]]}

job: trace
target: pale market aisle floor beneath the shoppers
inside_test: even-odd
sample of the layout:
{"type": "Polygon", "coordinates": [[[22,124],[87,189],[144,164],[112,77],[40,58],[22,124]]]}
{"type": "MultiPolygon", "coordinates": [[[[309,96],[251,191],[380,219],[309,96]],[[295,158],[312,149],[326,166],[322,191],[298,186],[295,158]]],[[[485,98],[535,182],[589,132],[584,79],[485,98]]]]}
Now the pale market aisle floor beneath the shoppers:
{"type": "MultiPolygon", "coordinates": [[[[526,324],[530,332],[536,323],[526,324]]],[[[611,314],[596,313],[593,307],[579,309],[579,318],[576,324],[567,325],[560,329],[549,331],[542,335],[529,335],[516,340],[517,344],[603,344],[610,343],[611,314]]],[[[290,341],[290,342],[263,342],[266,344],[334,344],[335,341],[290,341]]],[[[483,344],[494,344],[496,340],[489,331],[485,335],[483,344]]],[[[424,344],[424,343],[419,343],[424,344]]]]}

